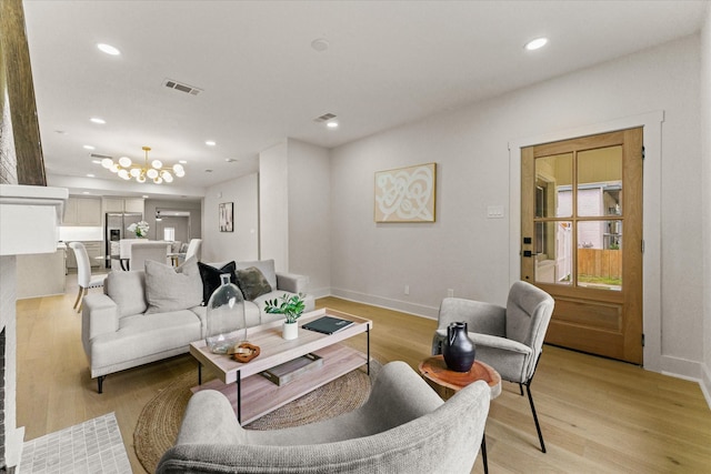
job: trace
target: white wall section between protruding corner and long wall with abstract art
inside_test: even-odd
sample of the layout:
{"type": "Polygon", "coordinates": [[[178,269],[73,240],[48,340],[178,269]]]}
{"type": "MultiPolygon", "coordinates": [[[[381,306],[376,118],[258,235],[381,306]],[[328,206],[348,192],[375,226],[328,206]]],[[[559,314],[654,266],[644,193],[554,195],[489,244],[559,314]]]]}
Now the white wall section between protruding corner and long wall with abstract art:
{"type": "MultiPolygon", "coordinates": [[[[329,151],[288,141],[289,271],[309,276],[309,292],[331,288],[331,171],[329,151]]],[[[338,191],[336,191],[338,192],[338,191]]]]}

